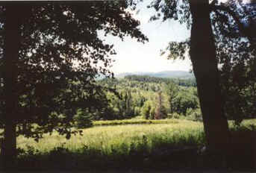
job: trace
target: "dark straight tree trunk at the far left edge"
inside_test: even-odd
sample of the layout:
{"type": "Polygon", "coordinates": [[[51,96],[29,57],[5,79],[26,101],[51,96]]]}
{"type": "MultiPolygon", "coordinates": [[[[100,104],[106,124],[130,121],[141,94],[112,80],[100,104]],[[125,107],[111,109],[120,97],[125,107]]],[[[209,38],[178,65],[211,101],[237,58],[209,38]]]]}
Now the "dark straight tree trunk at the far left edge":
{"type": "Polygon", "coordinates": [[[19,5],[5,6],[4,22],[4,169],[12,169],[16,158],[16,119],[18,96],[16,92],[17,60],[20,48],[19,5]]]}

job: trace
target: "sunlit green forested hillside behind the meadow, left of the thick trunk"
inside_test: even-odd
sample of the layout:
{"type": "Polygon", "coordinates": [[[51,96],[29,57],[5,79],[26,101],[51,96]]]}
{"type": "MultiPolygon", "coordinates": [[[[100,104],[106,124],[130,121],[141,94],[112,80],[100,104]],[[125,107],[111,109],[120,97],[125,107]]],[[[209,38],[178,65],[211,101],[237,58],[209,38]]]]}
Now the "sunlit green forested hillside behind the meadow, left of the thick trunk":
{"type": "Polygon", "coordinates": [[[81,126],[88,125],[87,119],[131,119],[134,116],[201,119],[194,79],[130,75],[121,79],[105,78],[98,83],[107,89],[102,96],[103,107],[80,113],[81,126]]]}

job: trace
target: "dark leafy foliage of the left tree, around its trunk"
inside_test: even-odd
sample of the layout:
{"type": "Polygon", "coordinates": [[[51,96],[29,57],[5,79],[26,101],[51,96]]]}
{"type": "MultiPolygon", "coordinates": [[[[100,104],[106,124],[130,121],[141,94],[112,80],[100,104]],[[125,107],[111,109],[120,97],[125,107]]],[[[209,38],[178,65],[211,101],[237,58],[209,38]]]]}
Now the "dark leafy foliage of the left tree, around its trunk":
{"type": "MultiPolygon", "coordinates": [[[[124,39],[148,39],[137,28],[140,22],[126,10],[131,1],[83,1],[78,4],[19,4],[21,19],[19,60],[13,92],[18,133],[36,139],[57,130],[69,138],[79,110],[100,104],[103,88],[96,78],[113,77],[109,66],[113,45],[99,33],[124,39]],[[98,95],[98,96],[96,96],[98,95]]],[[[133,5],[133,4],[131,4],[133,5]]],[[[0,6],[0,111],[6,103],[4,89],[4,23],[8,5],[0,6]],[[5,98],[4,98],[5,97],[5,98]]],[[[131,6],[133,7],[133,6],[131,6]]],[[[15,21],[13,21],[15,22],[15,21]]],[[[8,57],[9,58],[9,57],[8,57]]],[[[0,112],[1,125],[4,113],[0,112]]]]}

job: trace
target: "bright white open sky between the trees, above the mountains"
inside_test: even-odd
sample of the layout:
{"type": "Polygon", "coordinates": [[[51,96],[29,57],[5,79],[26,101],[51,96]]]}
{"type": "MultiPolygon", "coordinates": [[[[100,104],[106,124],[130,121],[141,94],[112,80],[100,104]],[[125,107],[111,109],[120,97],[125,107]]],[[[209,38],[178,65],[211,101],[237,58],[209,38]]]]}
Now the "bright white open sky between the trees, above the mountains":
{"type": "Polygon", "coordinates": [[[140,12],[134,14],[140,20],[140,28],[143,34],[149,38],[148,43],[137,43],[136,40],[126,37],[124,42],[115,37],[106,37],[107,43],[113,43],[116,55],[113,59],[112,70],[114,73],[121,72],[160,72],[165,70],[184,70],[191,69],[190,60],[166,60],[160,56],[160,49],[166,48],[169,41],[181,41],[190,36],[186,26],[173,21],[149,22],[150,16],[154,14],[153,9],[146,8],[147,2],[144,1],[138,8],[140,12]]]}

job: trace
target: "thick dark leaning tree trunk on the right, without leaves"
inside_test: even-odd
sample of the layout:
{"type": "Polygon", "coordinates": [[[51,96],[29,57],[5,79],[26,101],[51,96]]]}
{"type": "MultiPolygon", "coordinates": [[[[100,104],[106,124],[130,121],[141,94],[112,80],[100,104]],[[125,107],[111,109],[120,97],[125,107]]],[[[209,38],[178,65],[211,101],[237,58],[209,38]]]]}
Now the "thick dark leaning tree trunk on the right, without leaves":
{"type": "Polygon", "coordinates": [[[196,76],[207,147],[217,154],[228,151],[230,133],[222,110],[216,47],[210,25],[208,0],[190,0],[193,24],[190,57],[196,76]]]}

